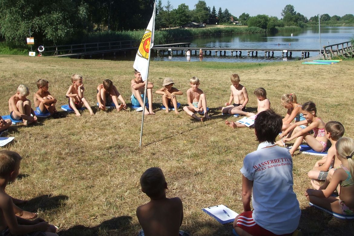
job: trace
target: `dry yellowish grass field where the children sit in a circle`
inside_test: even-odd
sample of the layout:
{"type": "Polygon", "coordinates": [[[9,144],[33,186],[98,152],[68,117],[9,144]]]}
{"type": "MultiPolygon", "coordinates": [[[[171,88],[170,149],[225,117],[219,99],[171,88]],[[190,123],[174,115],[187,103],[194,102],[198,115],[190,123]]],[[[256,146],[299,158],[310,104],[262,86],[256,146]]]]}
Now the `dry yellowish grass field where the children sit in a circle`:
{"type": "MultiPolygon", "coordinates": [[[[23,83],[37,90],[35,82],[47,79],[49,91],[66,104],[65,93],[74,73],[84,77],[85,97],[93,107],[96,87],[111,79],[127,103],[133,62],[50,57],[0,56],[0,114],[8,114],[8,98],[23,83]]],[[[156,115],[144,119],[143,147],[139,148],[141,113],[86,110],[81,117],[40,120],[25,127],[12,126],[7,136],[15,140],[5,148],[22,155],[19,178],[6,188],[13,197],[27,199],[22,207],[38,212],[59,227],[59,235],[136,235],[140,229],[136,208],[148,202],[139,186],[145,169],[158,166],[165,173],[168,197],[183,201],[181,229],[196,236],[231,235],[232,225],[220,225],[202,207],[227,205],[242,212],[241,173],[243,158],[256,150],[252,128],[231,129],[217,107],[228,101],[230,75],[238,73],[249,93],[249,111],[256,110],[253,90],[264,87],[271,107],[281,115],[284,93],[295,92],[300,103],[313,101],[325,122],[336,120],[354,137],[354,61],[335,65],[303,65],[301,62],[215,63],[152,62],[150,81],[154,91],[164,77],[172,77],[184,93],[189,79],[197,76],[205,92],[212,119],[195,122],[183,111],[179,115],[159,111],[161,97],[154,94],[156,115]]],[[[184,95],[178,102],[187,103],[184,95]]],[[[130,105],[130,104],[129,104],[130,105]]],[[[295,153],[294,190],[302,209],[299,229],[304,235],[348,235],[352,221],[339,221],[309,207],[304,196],[310,188],[307,172],[319,157],[295,153]]]]}

